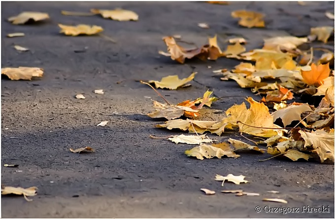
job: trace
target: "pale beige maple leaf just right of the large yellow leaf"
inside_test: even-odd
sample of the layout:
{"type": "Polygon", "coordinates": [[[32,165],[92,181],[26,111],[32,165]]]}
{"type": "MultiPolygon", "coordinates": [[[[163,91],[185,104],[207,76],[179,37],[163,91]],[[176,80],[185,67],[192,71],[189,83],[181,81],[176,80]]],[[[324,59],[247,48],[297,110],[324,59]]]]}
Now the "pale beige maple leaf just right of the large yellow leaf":
{"type": "Polygon", "coordinates": [[[287,125],[291,124],[292,121],[301,120],[301,114],[302,112],[305,111],[312,111],[312,109],[310,109],[308,104],[302,104],[302,105],[290,105],[286,108],[281,108],[277,111],[272,112],[272,117],[273,120],[277,120],[278,118],[281,118],[284,127],[286,127],[287,125]]]}

